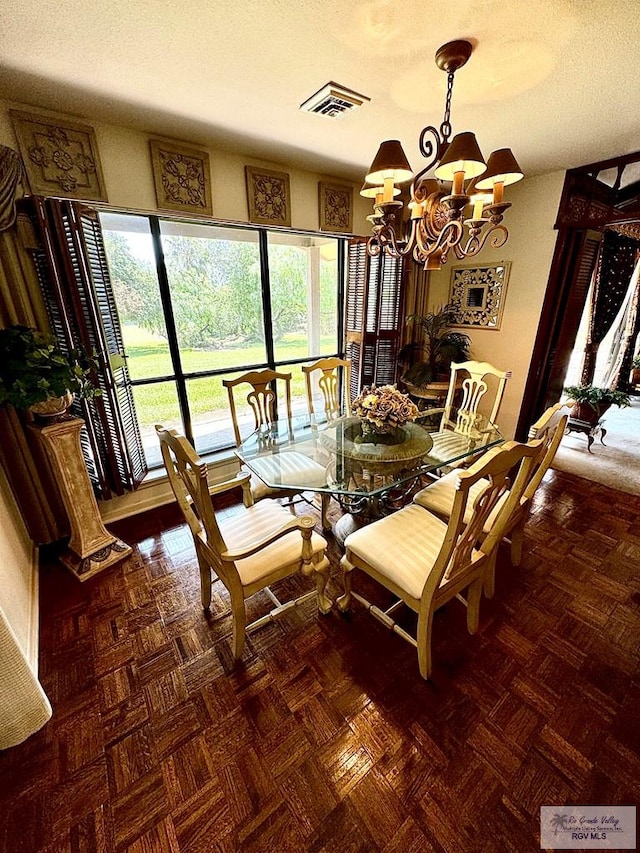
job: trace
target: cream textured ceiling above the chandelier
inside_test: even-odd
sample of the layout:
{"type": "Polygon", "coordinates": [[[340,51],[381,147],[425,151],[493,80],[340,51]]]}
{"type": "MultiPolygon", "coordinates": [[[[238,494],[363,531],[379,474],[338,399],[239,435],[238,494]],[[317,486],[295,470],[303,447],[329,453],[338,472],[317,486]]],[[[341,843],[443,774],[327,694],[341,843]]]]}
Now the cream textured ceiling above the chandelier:
{"type": "Polygon", "coordinates": [[[476,47],[453,131],[526,174],[640,149],[637,0],[3,0],[0,97],[359,180],[383,139],[421,168],[439,45],[476,47]],[[328,81],[371,98],[299,111],[328,81]]]}

